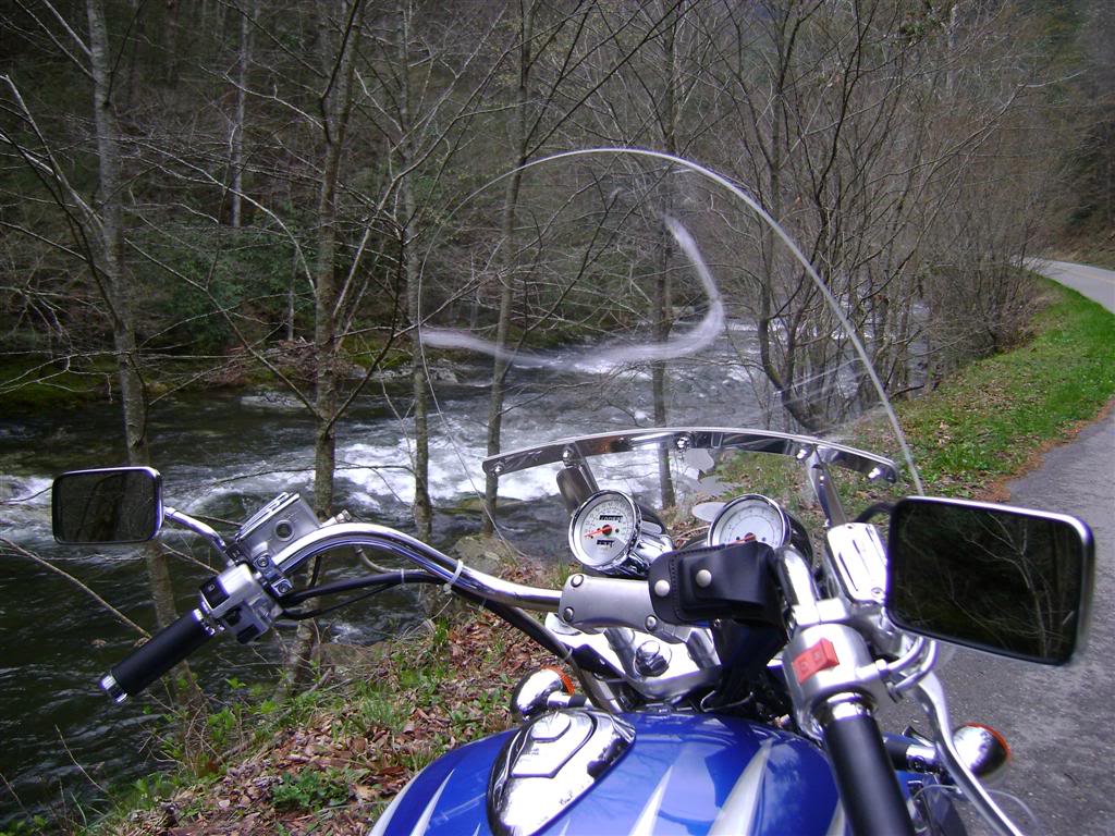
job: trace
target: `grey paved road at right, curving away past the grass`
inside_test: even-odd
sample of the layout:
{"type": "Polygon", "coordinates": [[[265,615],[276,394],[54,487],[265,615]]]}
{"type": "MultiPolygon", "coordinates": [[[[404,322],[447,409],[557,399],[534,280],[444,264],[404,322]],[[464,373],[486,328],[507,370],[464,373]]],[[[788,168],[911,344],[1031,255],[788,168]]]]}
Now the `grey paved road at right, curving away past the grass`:
{"type": "MultiPolygon", "coordinates": [[[[1035,269],[1115,311],[1115,272],[1063,262],[1035,269]]],[[[1037,826],[1015,816],[1027,833],[1115,834],[1115,414],[1007,487],[1015,505],[1067,512],[1092,526],[1092,633],[1068,668],[958,651],[942,677],[952,718],[987,722],[1010,741],[1015,762],[999,788],[1037,814],[1037,826]]]]}

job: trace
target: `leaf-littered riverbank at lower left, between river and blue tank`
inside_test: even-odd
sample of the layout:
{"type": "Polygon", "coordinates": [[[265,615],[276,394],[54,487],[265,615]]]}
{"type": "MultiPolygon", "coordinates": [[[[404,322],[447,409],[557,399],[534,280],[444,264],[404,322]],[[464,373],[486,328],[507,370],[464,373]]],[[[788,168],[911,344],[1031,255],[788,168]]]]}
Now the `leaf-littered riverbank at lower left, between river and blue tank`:
{"type": "MultiPolygon", "coordinates": [[[[491,568],[560,585],[552,568],[491,568]]],[[[234,682],[232,699],[194,728],[200,748],[187,756],[174,731],[156,741],[174,769],[119,788],[105,810],[59,810],[0,836],[362,836],[423,766],[508,726],[520,678],[558,664],[495,616],[450,600],[435,601],[442,613],[407,635],[326,645],[313,683],[289,699],[234,682]]]]}

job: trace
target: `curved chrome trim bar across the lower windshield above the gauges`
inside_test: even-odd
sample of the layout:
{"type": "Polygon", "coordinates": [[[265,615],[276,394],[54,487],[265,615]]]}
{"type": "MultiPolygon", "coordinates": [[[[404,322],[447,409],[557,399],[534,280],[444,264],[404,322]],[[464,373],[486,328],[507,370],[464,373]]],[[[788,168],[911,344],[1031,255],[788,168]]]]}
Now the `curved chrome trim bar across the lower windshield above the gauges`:
{"type": "Polygon", "coordinates": [[[744,450],[793,456],[798,459],[805,459],[815,454],[826,465],[855,470],[872,479],[885,479],[891,483],[898,480],[898,468],[891,459],[866,450],[859,450],[812,436],[729,427],[662,427],[563,438],[535,447],[523,447],[489,456],[484,459],[484,473],[502,476],[540,465],[554,464],[573,467],[579,461],[593,456],[630,453],[644,447],[663,445],[679,451],[691,448],[744,450]]]}

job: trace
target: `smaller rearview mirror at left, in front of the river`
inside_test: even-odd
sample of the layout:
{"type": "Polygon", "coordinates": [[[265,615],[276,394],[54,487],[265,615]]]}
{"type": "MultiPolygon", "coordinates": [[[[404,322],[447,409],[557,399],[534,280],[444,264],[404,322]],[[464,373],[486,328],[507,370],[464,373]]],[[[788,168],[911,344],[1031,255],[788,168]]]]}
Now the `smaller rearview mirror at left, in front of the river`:
{"type": "Polygon", "coordinates": [[[59,543],[143,543],[163,525],[163,477],[149,467],[71,470],[51,488],[59,543]]]}

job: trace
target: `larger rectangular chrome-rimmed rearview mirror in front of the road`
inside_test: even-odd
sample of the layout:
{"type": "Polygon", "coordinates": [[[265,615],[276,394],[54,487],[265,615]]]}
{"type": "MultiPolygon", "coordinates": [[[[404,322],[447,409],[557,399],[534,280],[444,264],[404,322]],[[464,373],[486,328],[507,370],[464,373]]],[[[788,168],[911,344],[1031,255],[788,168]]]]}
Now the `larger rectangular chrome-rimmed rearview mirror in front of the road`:
{"type": "Polygon", "coordinates": [[[909,497],[891,515],[886,609],[910,632],[1064,664],[1084,643],[1093,561],[1075,517],[909,497]]]}

